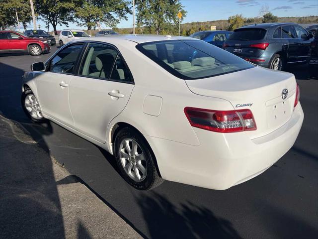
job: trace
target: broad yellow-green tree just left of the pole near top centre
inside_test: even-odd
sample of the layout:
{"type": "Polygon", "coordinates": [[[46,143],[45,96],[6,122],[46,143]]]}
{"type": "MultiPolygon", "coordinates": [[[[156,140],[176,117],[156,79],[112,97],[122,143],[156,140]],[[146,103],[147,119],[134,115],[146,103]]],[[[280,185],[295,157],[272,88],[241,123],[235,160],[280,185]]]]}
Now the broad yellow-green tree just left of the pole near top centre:
{"type": "Polygon", "coordinates": [[[75,9],[78,24],[87,30],[95,29],[97,22],[115,27],[120,19],[127,20],[127,13],[131,13],[127,0],[79,0],[75,9]]]}

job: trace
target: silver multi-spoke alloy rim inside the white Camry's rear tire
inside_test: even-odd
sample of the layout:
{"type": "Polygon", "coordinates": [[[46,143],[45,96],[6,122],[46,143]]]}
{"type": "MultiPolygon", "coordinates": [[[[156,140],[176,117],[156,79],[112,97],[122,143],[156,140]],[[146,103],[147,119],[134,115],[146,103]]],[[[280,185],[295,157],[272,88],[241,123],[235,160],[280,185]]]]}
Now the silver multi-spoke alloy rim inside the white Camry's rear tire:
{"type": "Polygon", "coordinates": [[[127,175],[136,182],[147,176],[147,161],[140,145],[132,138],[124,138],[119,146],[119,157],[127,175]]]}

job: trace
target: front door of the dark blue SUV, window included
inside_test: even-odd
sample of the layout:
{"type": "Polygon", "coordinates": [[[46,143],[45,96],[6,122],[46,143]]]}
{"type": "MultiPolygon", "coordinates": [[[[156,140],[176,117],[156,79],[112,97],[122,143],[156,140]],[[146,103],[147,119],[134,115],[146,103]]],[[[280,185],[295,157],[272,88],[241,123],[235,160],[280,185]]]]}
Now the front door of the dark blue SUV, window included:
{"type": "Polygon", "coordinates": [[[310,43],[312,39],[308,38],[308,32],[301,26],[294,26],[299,42],[299,60],[307,61],[310,57],[310,43]]]}

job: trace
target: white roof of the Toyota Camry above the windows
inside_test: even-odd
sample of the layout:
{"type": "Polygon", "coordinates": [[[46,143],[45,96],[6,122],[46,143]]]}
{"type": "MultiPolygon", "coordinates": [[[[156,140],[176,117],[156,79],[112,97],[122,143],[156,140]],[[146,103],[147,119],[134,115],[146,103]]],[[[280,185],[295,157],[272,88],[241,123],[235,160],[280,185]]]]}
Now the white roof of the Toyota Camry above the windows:
{"type": "Polygon", "coordinates": [[[87,38],[86,40],[94,40],[94,41],[101,41],[101,42],[108,42],[110,39],[116,39],[121,41],[133,41],[136,43],[144,43],[144,42],[152,42],[152,41],[165,41],[165,40],[198,40],[192,37],[186,36],[170,36],[170,35],[112,35],[112,36],[101,36],[101,37],[94,37],[87,38]]]}

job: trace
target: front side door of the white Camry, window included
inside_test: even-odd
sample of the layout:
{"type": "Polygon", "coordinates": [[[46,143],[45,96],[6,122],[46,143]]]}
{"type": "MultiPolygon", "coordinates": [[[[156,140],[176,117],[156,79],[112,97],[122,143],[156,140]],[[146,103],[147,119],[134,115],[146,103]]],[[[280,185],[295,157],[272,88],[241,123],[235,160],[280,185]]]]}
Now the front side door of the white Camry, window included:
{"type": "Polygon", "coordinates": [[[71,127],[74,122],[69,107],[69,86],[82,47],[83,43],[77,43],[58,51],[46,71],[36,78],[42,113],[71,127]]]}

